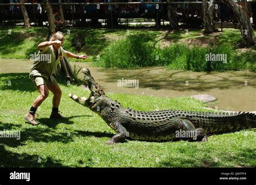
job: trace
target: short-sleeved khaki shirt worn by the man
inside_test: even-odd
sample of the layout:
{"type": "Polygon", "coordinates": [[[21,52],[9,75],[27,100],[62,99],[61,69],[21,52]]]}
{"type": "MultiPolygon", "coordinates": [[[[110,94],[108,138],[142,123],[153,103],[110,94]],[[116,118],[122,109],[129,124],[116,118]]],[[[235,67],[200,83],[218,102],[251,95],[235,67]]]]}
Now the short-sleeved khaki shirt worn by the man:
{"type": "Polygon", "coordinates": [[[59,63],[59,59],[61,57],[66,57],[66,51],[60,47],[58,49],[58,58],[56,59],[55,56],[55,50],[53,49],[53,46],[50,45],[48,47],[45,47],[43,51],[39,51],[35,60],[33,60],[32,67],[30,69],[29,77],[33,76],[39,76],[43,77],[45,79],[51,79],[53,81],[53,76],[56,72],[57,65],[59,63]]]}

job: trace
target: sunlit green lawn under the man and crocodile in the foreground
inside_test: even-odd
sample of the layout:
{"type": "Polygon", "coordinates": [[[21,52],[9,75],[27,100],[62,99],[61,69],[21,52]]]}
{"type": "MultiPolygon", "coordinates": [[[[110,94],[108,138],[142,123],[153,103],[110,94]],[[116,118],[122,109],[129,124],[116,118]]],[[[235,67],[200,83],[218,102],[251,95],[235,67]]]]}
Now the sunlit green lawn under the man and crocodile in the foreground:
{"type": "MultiPolygon", "coordinates": [[[[87,97],[81,87],[66,86],[60,111],[69,119],[49,119],[52,94],[38,108],[39,126],[24,124],[23,117],[38,95],[28,73],[0,74],[0,131],[21,131],[21,140],[0,138],[0,167],[255,167],[253,131],[213,135],[208,142],[145,142],[126,140],[107,146],[114,134],[95,113],[68,97],[87,97]],[[9,86],[9,82],[11,82],[9,86]]],[[[191,98],[153,98],[110,94],[124,107],[141,111],[184,109],[204,111],[191,98]]]]}

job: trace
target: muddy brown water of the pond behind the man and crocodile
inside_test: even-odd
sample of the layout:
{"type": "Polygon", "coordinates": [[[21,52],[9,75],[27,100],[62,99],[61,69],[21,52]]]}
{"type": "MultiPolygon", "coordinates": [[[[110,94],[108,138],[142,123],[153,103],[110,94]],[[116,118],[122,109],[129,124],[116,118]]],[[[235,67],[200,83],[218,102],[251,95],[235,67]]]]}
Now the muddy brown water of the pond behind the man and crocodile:
{"type": "MultiPolygon", "coordinates": [[[[218,109],[228,111],[256,111],[255,72],[207,73],[166,70],[165,67],[119,70],[93,67],[91,63],[71,63],[72,66],[74,64],[89,68],[92,76],[98,84],[104,87],[105,92],[156,97],[210,94],[217,98],[217,101],[208,104],[211,108],[218,107],[218,109]],[[133,83],[127,84],[133,86],[127,87],[126,80],[133,80],[133,83]]],[[[29,60],[0,59],[0,73],[28,72],[30,65],[29,60]]]]}

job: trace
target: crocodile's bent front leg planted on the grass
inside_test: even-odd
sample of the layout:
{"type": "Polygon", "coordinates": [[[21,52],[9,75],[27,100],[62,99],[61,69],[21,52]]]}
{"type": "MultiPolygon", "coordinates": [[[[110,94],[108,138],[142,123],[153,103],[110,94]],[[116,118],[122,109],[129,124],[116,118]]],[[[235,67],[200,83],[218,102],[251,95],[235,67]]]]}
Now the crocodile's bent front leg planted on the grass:
{"type": "Polygon", "coordinates": [[[111,140],[107,141],[106,144],[107,145],[113,145],[118,143],[119,141],[122,141],[126,138],[126,136],[128,135],[128,132],[126,131],[126,129],[119,123],[119,122],[113,122],[110,123],[109,126],[117,132],[116,135],[114,135],[111,140]]]}

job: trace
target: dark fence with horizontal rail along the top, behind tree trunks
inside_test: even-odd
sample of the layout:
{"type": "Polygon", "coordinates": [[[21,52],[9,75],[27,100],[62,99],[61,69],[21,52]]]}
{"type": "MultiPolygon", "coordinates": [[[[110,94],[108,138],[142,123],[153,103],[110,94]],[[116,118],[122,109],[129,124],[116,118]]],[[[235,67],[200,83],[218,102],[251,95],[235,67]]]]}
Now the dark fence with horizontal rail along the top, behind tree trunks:
{"type": "MultiPolygon", "coordinates": [[[[110,0],[111,1],[111,0],[110,0]]],[[[70,27],[145,27],[169,26],[167,2],[108,2],[108,3],[50,3],[53,12],[62,5],[66,25],[70,27]]],[[[180,28],[203,28],[202,2],[171,2],[177,8],[176,15],[180,28]]],[[[252,14],[252,4],[248,10],[252,14]]],[[[0,4],[0,24],[23,24],[19,3],[0,4]]],[[[43,3],[24,3],[32,26],[47,26],[48,17],[43,3]]],[[[225,4],[216,2],[214,20],[217,27],[236,27],[237,20],[225,4]]],[[[255,12],[255,9],[254,9],[255,12]]],[[[254,20],[255,21],[255,20],[254,20]]]]}

